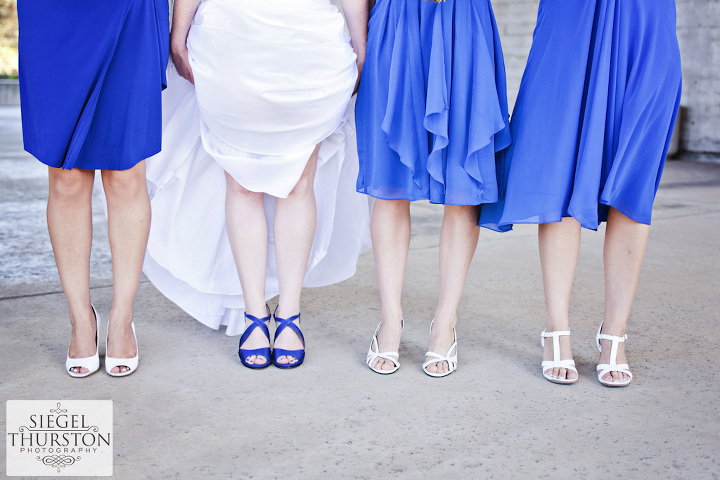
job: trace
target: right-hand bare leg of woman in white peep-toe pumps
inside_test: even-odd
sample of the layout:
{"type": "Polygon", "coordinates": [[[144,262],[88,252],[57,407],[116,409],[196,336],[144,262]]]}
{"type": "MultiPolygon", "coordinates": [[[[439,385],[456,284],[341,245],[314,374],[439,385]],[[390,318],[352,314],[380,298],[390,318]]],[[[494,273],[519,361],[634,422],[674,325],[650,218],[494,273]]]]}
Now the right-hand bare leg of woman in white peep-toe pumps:
{"type": "MultiPolygon", "coordinates": [[[[145,248],[150,232],[150,199],[145,182],[145,162],[129,170],[102,172],[108,205],[108,236],[113,266],[113,303],[105,355],[132,358],[137,345],[131,323],[145,248]]],[[[112,373],[123,373],[119,366],[112,373]]]]}

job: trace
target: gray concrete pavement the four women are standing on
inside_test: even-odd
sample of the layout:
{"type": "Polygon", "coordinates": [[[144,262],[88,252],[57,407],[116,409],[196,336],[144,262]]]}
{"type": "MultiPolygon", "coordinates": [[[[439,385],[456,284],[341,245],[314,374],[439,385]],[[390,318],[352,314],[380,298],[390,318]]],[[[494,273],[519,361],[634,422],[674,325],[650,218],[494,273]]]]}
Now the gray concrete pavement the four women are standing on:
{"type": "MultiPolygon", "coordinates": [[[[242,367],[238,337],[202,326],[143,281],[139,370],[78,380],[63,371],[69,322],[44,226],[44,168],[19,153],[18,119],[0,109],[2,430],[5,400],[111,399],[121,479],[720,478],[720,165],[668,164],[628,328],[627,388],[605,388],[594,375],[602,229],[583,232],[573,292],[578,384],[540,374],[532,226],[481,232],[460,308],[459,368],[424,375],[442,212],[422,204],[413,210],[396,374],[364,364],[378,322],[368,252],[352,279],[304,292],[308,357],[297,370],[242,367]]],[[[97,211],[92,296],[107,317],[97,211]]]]}

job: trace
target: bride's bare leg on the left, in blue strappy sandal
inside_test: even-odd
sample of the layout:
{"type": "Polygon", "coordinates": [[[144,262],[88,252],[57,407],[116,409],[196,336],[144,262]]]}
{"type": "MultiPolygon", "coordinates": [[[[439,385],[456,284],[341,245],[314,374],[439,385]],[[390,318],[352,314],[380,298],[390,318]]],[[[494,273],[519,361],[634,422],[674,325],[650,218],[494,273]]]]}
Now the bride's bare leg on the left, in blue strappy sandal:
{"type": "MultiPolygon", "coordinates": [[[[263,193],[251,192],[225,173],[225,223],[230,239],[240,286],[245,298],[245,311],[257,318],[267,316],[265,277],[267,275],[267,220],[263,193]]],[[[247,328],[252,322],[245,322],[247,328]]],[[[241,345],[250,350],[269,347],[270,342],[258,328],[241,345]]],[[[247,362],[262,365],[268,361],[261,355],[248,357],[247,362]]]]}

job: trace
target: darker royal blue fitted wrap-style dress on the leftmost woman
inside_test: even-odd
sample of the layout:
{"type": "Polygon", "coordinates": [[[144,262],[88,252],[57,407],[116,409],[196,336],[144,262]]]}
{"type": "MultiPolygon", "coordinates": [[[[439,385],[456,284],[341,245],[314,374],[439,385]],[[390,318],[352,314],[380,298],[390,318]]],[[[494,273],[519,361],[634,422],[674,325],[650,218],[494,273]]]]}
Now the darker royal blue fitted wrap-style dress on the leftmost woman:
{"type": "Polygon", "coordinates": [[[167,0],[19,0],[25,150],[126,170],[160,151],[167,0]]]}

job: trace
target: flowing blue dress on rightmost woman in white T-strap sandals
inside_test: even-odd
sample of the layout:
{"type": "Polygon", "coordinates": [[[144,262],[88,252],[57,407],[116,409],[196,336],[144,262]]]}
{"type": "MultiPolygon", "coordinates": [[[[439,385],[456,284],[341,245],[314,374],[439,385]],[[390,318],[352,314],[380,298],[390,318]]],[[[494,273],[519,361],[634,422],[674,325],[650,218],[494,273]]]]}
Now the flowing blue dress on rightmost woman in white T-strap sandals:
{"type": "Polygon", "coordinates": [[[680,104],[675,23],[673,0],[541,0],[481,226],[571,216],[596,230],[609,207],[650,224],[680,104]]]}

